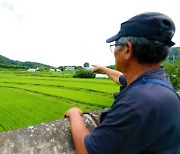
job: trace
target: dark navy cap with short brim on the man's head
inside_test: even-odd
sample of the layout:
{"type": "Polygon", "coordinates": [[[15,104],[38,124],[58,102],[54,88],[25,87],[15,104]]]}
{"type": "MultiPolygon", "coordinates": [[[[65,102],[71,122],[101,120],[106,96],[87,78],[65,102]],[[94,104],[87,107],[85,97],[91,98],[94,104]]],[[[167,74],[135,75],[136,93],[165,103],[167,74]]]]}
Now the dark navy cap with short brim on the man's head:
{"type": "Polygon", "coordinates": [[[121,24],[118,34],[106,40],[107,43],[117,41],[121,37],[135,36],[156,40],[168,46],[175,33],[175,25],[168,16],[157,12],[146,12],[136,15],[121,24]]]}

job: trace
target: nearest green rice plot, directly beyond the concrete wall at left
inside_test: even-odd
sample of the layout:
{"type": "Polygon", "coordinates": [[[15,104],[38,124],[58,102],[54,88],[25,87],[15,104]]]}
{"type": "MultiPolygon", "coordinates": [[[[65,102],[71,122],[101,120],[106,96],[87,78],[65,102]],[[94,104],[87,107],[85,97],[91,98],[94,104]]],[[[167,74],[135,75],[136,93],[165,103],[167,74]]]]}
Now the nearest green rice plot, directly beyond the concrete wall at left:
{"type": "Polygon", "coordinates": [[[60,119],[74,104],[0,87],[0,131],[60,119]]]}

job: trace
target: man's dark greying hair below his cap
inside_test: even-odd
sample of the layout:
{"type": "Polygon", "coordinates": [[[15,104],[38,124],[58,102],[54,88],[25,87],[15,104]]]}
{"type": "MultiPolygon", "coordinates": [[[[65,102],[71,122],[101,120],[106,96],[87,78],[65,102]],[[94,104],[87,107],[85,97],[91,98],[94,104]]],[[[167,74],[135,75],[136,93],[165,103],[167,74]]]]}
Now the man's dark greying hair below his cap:
{"type": "Polygon", "coordinates": [[[149,40],[144,37],[121,37],[116,44],[126,44],[131,42],[133,55],[139,63],[159,63],[165,60],[170,47],[162,42],[149,40]]]}

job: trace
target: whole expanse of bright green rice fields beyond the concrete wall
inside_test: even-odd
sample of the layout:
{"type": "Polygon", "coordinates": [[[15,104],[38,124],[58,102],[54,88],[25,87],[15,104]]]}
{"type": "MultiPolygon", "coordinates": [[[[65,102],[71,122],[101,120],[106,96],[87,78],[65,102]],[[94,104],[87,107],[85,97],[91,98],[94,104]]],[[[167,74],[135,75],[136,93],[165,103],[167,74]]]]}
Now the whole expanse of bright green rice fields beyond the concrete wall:
{"type": "Polygon", "coordinates": [[[70,72],[0,70],[0,132],[111,106],[119,86],[110,79],[77,79],[70,72]]]}

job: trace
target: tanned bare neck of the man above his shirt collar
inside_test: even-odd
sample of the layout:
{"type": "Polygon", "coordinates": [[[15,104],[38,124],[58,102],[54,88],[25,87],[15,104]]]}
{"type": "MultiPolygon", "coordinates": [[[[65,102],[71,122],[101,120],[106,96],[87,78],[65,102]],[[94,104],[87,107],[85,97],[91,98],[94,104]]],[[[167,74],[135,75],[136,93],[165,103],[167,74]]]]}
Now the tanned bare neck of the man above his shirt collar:
{"type": "Polygon", "coordinates": [[[133,64],[130,65],[129,69],[124,72],[124,76],[127,80],[127,85],[131,84],[136,80],[140,75],[145,72],[158,69],[161,67],[161,64],[133,64]]]}

